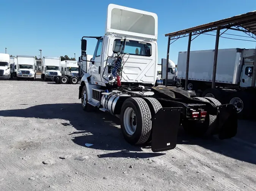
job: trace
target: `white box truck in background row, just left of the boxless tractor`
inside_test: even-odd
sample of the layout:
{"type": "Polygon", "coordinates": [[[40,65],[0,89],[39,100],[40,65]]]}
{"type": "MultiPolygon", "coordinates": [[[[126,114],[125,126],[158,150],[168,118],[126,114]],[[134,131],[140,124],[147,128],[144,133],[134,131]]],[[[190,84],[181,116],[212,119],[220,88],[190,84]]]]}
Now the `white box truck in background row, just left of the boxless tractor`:
{"type": "Polygon", "coordinates": [[[53,80],[53,77],[60,76],[60,57],[43,57],[41,78],[45,81],[53,80]]]}

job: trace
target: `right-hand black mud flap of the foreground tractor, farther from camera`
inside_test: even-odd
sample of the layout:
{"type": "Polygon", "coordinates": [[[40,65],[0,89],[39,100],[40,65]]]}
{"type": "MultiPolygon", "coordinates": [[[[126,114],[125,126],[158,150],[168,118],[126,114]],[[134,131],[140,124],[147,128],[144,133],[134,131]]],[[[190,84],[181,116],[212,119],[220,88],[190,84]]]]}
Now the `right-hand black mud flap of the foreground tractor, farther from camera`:
{"type": "Polygon", "coordinates": [[[237,134],[237,113],[233,105],[219,108],[219,139],[229,139],[237,134]]]}

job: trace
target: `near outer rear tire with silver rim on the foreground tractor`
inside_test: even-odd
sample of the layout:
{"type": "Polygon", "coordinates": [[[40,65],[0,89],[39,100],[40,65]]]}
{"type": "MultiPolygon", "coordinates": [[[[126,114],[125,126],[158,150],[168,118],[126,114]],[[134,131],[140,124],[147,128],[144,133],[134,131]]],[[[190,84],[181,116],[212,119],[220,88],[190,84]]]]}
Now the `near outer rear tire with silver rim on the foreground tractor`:
{"type": "Polygon", "coordinates": [[[140,97],[126,99],[121,108],[120,122],[124,139],[128,143],[138,145],[148,141],[152,122],[145,100],[140,97]]]}

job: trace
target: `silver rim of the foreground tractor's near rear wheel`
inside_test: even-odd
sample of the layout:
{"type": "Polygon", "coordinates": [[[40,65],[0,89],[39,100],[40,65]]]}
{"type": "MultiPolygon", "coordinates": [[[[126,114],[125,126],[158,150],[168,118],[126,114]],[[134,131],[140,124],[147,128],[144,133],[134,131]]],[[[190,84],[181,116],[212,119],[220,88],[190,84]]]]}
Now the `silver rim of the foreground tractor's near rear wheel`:
{"type": "Polygon", "coordinates": [[[126,108],[124,111],[124,129],[127,134],[133,135],[137,127],[137,117],[131,107],[126,108]]]}

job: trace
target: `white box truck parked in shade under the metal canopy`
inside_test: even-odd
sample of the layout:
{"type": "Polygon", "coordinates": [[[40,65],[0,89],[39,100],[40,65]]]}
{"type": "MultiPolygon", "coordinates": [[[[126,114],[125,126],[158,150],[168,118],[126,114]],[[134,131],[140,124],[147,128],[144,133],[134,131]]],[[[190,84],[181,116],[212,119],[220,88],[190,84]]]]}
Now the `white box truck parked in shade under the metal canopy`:
{"type": "MultiPolygon", "coordinates": [[[[214,50],[190,51],[188,90],[203,91],[221,103],[231,103],[241,117],[256,112],[256,88],[251,87],[255,49],[219,49],[216,88],[212,89],[214,50]]],[[[185,85],[187,52],[179,52],[177,77],[185,85]]]]}

